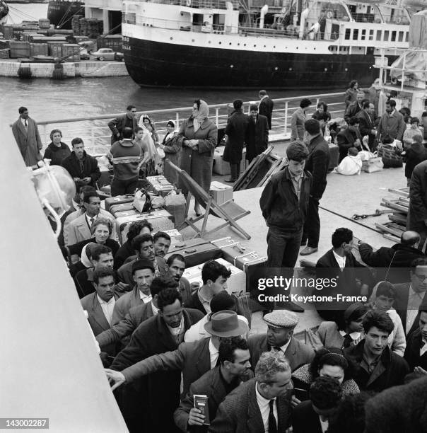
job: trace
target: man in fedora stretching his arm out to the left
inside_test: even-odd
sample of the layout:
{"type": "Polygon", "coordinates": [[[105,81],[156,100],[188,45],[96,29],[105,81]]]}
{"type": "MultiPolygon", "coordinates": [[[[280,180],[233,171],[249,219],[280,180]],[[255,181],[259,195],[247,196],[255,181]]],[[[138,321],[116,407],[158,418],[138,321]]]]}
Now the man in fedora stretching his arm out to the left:
{"type": "MultiPolygon", "coordinates": [[[[194,342],[183,342],[177,350],[155,354],[120,372],[112,371],[115,369],[116,362],[114,362],[112,370],[105,370],[113,385],[112,388],[115,389],[125,381],[132,382],[157,371],[181,370],[184,381],[182,395],[185,396],[191,383],[216,366],[221,340],[244,335],[249,330],[247,323],[241,321],[237,313],[228,310],[212,314],[211,320],[205,323],[204,328],[211,337],[194,342]]],[[[131,340],[134,340],[134,336],[131,340]]]]}

